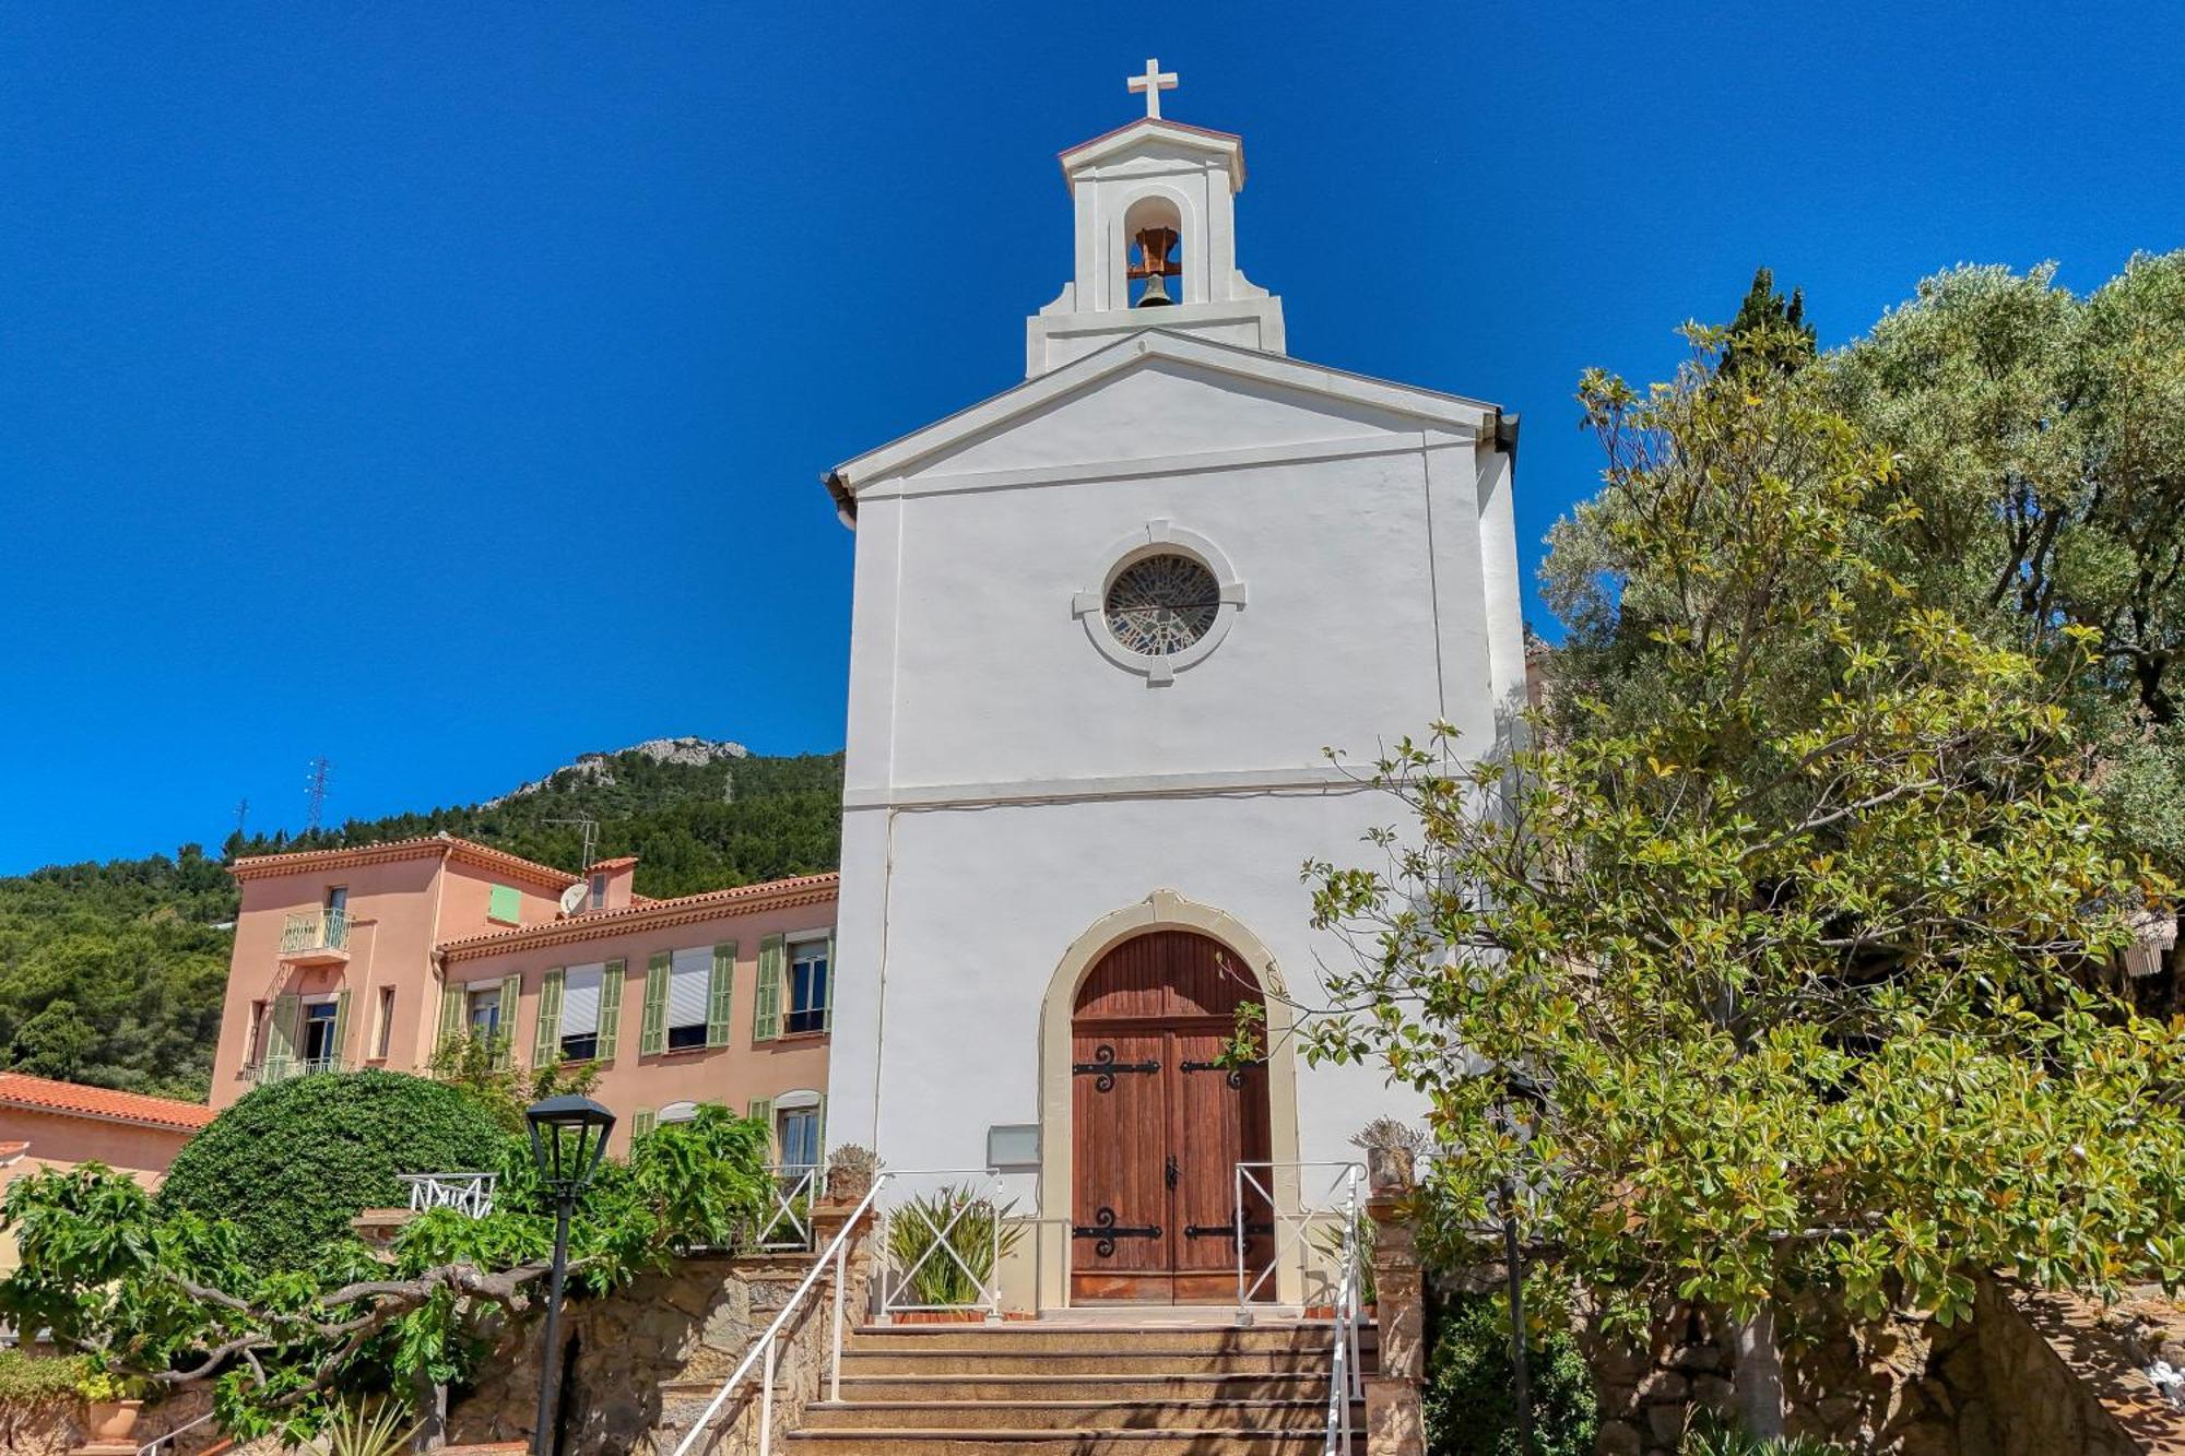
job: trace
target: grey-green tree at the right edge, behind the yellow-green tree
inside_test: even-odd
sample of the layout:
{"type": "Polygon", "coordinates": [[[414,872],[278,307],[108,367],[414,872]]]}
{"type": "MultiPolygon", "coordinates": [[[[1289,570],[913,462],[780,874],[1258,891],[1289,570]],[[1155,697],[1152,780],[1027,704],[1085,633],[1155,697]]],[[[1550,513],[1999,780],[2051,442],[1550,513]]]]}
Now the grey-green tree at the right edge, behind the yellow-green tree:
{"type": "MultiPolygon", "coordinates": [[[[2087,297],[1940,273],[1822,369],[1897,463],[1877,560],[2069,682],[2119,833],[2185,870],[2185,251],[2087,297]]],[[[2178,1006],[2176,960],[2152,990],[2178,1006]]]]}

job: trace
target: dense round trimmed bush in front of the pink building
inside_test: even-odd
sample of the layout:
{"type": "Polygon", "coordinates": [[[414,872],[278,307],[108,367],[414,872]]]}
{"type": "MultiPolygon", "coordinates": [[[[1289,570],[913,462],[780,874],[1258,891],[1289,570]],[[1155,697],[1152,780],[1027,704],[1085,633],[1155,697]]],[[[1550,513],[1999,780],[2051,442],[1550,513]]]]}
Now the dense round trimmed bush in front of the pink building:
{"type": "Polygon", "coordinates": [[[409,1207],[406,1172],[494,1172],[507,1132],[463,1091],[400,1071],[273,1082],[175,1156],[166,1209],[225,1218],[258,1268],[310,1268],[363,1209],[409,1207]]]}

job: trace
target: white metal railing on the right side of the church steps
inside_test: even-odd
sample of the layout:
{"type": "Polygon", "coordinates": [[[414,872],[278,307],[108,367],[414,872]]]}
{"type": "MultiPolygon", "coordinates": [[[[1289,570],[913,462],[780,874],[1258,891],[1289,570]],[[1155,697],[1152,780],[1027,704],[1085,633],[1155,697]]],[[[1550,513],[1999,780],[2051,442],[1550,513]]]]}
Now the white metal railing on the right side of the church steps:
{"type": "Polygon", "coordinates": [[[1333,1329],[1331,1345],[1333,1355],[1328,1360],[1328,1434],[1326,1454],[1348,1456],[1350,1452],[1350,1404],[1366,1397],[1366,1377],[1359,1371],[1359,1314],[1361,1314],[1361,1279],[1359,1279],[1359,1187],[1366,1181],[1366,1170],[1357,1163],[1237,1163],[1237,1312],[1250,1318],[1252,1301],[1267,1292],[1267,1283],[1278,1279],[1283,1268],[1283,1257],[1291,1250],[1300,1253],[1307,1244],[1307,1233],[1324,1222],[1337,1222],[1337,1237],[1328,1250],[1335,1257],[1335,1301],[1331,1305],[1333,1329]],[[1298,1205],[1294,1211],[1283,1211],[1283,1200],[1276,1198],[1280,1191],[1283,1174],[1298,1181],[1298,1205]],[[1320,1185],[1318,1174],[1328,1174],[1326,1185],[1320,1185]],[[1320,1189],[1307,1198],[1307,1189],[1320,1189]],[[1248,1198],[1250,1194],[1250,1198],[1248,1198]],[[1250,1268],[1248,1244],[1250,1244],[1250,1213],[1263,1207],[1269,1211],[1272,1226],[1267,1261],[1261,1268],[1250,1268]]]}

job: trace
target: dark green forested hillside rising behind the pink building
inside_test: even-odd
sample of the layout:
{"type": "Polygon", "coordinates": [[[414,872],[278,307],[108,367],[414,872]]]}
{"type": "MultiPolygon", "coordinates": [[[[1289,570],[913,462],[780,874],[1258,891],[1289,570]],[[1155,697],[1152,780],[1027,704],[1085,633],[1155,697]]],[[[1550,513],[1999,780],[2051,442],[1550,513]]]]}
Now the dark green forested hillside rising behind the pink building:
{"type": "Polygon", "coordinates": [[[448,831],[575,870],[581,831],[548,820],[577,815],[599,820],[597,857],[640,857],[640,894],[830,870],[841,754],[675,763],[627,750],[494,805],[0,879],[0,1067],[203,1100],[234,938],[225,859],[448,831]]]}

